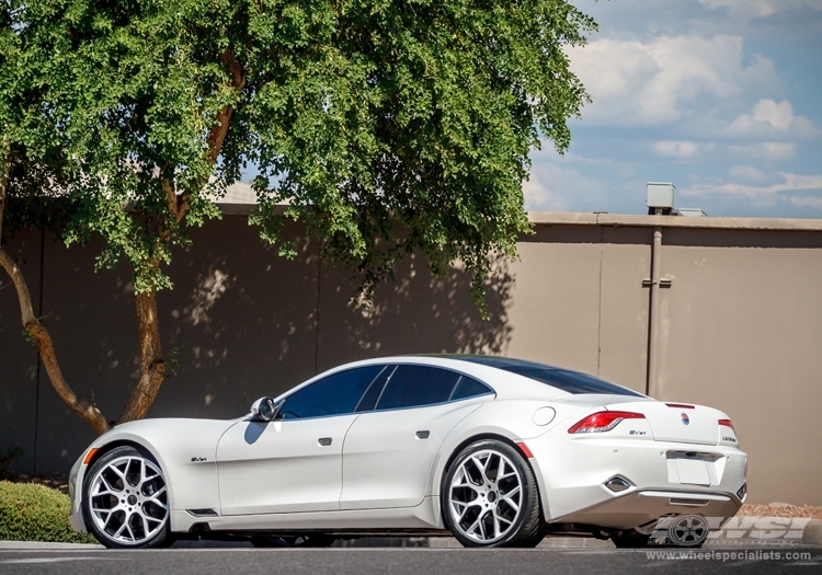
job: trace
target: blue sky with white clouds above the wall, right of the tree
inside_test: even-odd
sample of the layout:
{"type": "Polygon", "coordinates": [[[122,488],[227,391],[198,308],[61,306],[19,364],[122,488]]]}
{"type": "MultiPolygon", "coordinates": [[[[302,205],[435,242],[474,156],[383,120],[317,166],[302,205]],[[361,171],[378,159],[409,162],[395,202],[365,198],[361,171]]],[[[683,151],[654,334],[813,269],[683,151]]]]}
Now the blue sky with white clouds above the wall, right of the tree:
{"type": "Polygon", "coordinates": [[[560,156],[530,154],[532,211],[647,214],[646,183],[709,216],[822,218],[822,0],[573,0],[593,97],[560,156]]]}

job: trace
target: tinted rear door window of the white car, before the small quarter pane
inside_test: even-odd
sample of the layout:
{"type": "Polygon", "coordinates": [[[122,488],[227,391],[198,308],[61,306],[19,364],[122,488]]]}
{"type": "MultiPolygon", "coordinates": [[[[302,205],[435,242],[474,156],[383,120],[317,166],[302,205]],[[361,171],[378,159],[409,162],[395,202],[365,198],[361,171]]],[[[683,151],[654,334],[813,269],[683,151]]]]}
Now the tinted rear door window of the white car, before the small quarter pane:
{"type": "Polygon", "coordinates": [[[416,407],[448,401],[459,373],[425,366],[398,366],[388,380],[377,410],[416,407]]]}

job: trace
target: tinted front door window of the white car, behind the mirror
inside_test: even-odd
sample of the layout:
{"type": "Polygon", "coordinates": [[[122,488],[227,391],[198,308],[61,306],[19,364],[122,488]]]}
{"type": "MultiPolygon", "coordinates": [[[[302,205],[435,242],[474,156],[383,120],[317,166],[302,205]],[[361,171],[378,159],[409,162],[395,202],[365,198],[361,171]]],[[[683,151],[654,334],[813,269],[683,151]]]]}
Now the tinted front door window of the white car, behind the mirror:
{"type": "Polygon", "coordinates": [[[359,398],[385,366],[340,371],[289,395],[278,418],[300,419],[354,413],[359,398]]]}

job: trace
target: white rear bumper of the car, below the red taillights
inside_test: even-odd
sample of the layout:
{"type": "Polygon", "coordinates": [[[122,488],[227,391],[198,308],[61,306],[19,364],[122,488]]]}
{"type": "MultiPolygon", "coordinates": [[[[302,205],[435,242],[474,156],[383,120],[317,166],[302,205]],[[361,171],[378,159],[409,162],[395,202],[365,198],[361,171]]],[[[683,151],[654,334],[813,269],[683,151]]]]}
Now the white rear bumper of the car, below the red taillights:
{"type": "Polygon", "coordinates": [[[635,529],[664,515],[701,515],[718,529],[742,506],[737,492],[745,483],[747,456],[733,447],[593,435],[540,439],[527,444],[549,522],[635,529]],[[681,483],[677,457],[706,461],[708,480],[681,483]],[[615,476],[629,487],[608,488],[615,476]]]}

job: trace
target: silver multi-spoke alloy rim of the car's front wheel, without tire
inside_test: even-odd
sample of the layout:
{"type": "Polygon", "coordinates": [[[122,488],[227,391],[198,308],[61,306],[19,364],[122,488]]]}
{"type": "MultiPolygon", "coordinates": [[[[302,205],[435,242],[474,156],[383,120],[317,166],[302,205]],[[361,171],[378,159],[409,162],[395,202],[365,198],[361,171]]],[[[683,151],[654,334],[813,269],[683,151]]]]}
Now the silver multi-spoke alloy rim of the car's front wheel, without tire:
{"type": "Polygon", "coordinates": [[[89,483],[89,510],[103,537],[125,545],[153,539],[169,517],[165,480],[151,461],[134,455],[115,458],[89,483]]]}

